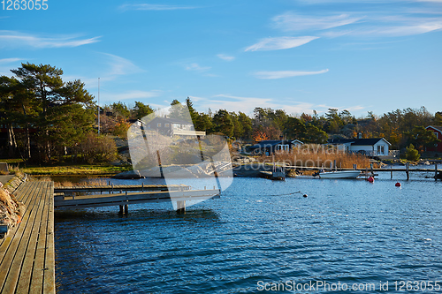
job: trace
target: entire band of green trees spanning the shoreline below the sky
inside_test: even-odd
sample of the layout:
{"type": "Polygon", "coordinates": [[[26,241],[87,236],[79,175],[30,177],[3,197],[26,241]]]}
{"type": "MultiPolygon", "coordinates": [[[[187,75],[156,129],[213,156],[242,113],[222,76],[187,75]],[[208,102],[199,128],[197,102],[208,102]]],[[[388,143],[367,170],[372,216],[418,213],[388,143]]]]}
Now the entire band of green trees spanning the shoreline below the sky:
{"type": "MultiPolygon", "coordinates": [[[[110,136],[126,138],[130,125],[155,111],[149,104],[127,106],[114,102],[100,108],[80,79],[64,81],[63,71],[49,64],[21,64],[11,70],[13,77],[0,77],[0,124],[4,155],[19,155],[25,160],[48,162],[54,156],[72,155],[75,160],[93,162],[115,158],[116,147],[110,136]],[[100,134],[98,134],[98,129],[100,134]],[[91,144],[94,142],[94,144],[91,144]],[[109,152],[95,145],[107,146],[109,152]]],[[[256,107],[253,115],[218,109],[198,112],[189,97],[182,102],[190,112],[194,128],[208,134],[255,142],[263,139],[300,139],[323,144],[327,139],[385,138],[392,149],[413,144],[420,152],[438,142],[425,130],[442,125],[442,112],[427,109],[396,109],[377,116],[354,117],[344,109],[328,109],[322,115],[287,114],[284,109],[256,107]]],[[[171,105],[181,104],[173,100],[171,105]]]]}

